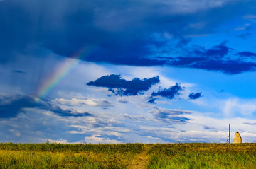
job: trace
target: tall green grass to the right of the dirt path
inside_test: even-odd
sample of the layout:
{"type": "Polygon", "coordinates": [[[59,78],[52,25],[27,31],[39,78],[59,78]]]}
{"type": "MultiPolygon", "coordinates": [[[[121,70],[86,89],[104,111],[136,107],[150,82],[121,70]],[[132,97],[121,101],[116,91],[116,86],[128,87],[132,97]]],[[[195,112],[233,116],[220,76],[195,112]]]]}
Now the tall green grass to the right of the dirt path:
{"type": "Polygon", "coordinates": [[[148,168],[255,168],[256,144],[156,144],[148,168]]]}

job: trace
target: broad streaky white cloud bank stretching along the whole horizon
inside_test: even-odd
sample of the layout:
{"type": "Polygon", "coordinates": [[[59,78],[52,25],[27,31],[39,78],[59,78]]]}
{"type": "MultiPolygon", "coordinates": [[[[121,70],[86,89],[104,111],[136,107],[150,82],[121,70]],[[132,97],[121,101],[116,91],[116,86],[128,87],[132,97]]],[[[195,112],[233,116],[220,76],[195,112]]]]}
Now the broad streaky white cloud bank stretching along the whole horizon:
{"type": "MultiPolygon", "coordinates": [[[[123,106],[127,108],[127,104],[123,106]]],[[[137,112],[134,115],[130,114],[129,111],[122,115],[113,115],[109,110],[98,117],[60,117],[54,115],[53,112],[31,108],[25,109],[26,114],[21,113],[9,122],[2,120],[0,127],[3,129],[1,132],[3,132],[15,122],[16,125],[13,125],[9,132],[14,138],[18,136],[20,139],[17,141],[20,142],[28,142],[28,140],[46,142],[47,138],[50,142],[54,142],[55,139],[52,136],[55,135],[58,136],[57,138],[61,138],[56,139],[56,142],[70,143],[70,138],[76,137],[74,134],[87,134],[89,136],[83,140],[87,143],[117,144],[122,142],[225,142],[228,136],[228,124],[231,124],[232,139],[235,132],[239,131],[244,142],[256,141],[255,125],[252,125],[256,123],[256,120],[238,117],[220,119],[203,115],[201,112],[191,113],[182,110],[185,112],[183,116],[191,119],[191,121],[185,124],[166,124],[156,120],[152,113],[145,112],[152,107],[154,106],[137,107],[137,112]],[[23,124],[24,120],[26,120],[26,124],[23,124]],[[38,132],[35,127],[45,129],[47,133],[38,132]],[[57,130],[55,131],[55,129],[57,130]]],[[[165,111],[164,108],[160,107],[157,110],[165,111]]],[[[169,113],[181,113],[180,111],[173,110],[169,113]]],[[[80,139],[77,142],[80,143],[80,139]]]]}

